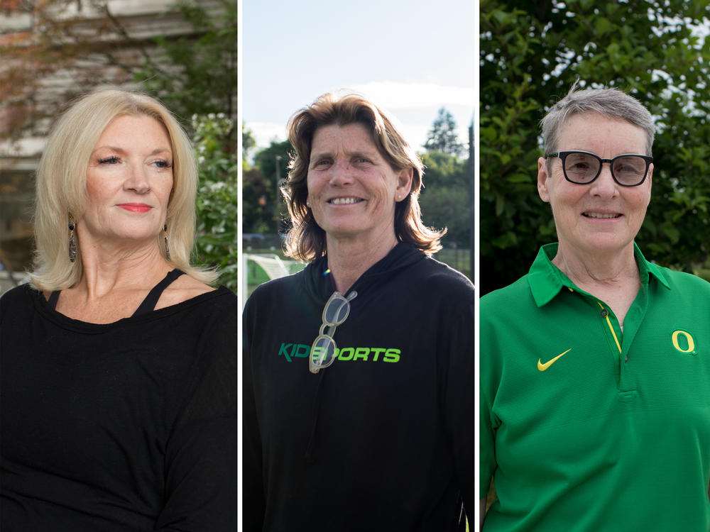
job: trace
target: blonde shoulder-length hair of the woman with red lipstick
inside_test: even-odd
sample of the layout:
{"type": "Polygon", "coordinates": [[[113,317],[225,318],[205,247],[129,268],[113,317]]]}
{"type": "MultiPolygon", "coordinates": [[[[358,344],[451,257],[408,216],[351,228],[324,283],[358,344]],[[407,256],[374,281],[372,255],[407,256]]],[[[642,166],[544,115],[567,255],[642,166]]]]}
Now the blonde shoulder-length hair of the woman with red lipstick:
{"type": "MultiPolygon", "coordinates": [[[[190,139],[158,100],[104,89],[82,96],[60,116],[40,159],[36,172],[34,267],[30,273],[31,284],[37,289],[68,288],[82,277],[78,240],[77,260],[69,260],[70,217],[79,220],[84,214],[89,158],[99,137],[119,116],[150,116],[165,127],[173,150],[173,190],[165,218],[170,262],[200,282],[209,284],[217,279],[216,271],[190,265],[197,193],[197,165],[190,139]]],[[[165,257],[162,240],[161,232],[156,245],[165,257]]]]}

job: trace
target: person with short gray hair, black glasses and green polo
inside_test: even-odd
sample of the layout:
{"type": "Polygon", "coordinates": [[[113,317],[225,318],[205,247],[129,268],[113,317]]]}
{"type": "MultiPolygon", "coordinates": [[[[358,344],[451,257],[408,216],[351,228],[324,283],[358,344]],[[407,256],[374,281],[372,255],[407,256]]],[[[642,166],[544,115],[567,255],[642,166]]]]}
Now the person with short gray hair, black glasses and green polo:
{"type": "Polygon", "coordinates": [[[558,242],[481,299],[481,528],[709,531],[710,284],[635,244],[648,110],[575,89],[537,161],[558,242]]]}

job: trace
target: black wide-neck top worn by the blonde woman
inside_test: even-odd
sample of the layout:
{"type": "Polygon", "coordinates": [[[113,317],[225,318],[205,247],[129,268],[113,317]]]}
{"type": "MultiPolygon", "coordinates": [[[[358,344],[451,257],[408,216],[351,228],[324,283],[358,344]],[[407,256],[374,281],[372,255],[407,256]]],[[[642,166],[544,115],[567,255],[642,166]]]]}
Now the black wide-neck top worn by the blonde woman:
{"type": "Polygon", "coordinates": [[[0,298],[3,532],[236,530],[236,297],[115,323],[0,298]]]}

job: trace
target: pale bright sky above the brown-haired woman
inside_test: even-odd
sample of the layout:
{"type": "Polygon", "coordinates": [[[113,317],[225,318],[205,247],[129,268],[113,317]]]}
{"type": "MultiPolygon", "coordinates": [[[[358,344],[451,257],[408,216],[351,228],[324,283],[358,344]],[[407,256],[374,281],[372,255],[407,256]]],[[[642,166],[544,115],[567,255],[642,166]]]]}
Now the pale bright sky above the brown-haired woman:
{"type": "Polygon", "coordinates": [[[257,146],[324,92],[352,89],[399,121],[422,150],[446,107],[459,140],[474,113],[471,0],[242,2],[242,118],[257,146]]]}

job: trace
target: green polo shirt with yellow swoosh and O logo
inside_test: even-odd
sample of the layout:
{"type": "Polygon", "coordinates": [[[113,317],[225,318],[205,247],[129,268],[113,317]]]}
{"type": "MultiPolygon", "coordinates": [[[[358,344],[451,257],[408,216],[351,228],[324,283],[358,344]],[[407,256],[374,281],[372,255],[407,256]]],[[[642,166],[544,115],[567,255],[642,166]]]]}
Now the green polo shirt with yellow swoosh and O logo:
{"type": "Polygon", "coordinates": [[[622,332],[556,253],[481,299],[484,532],[710,531],[710,284],[635,247],[622,332]]]}

